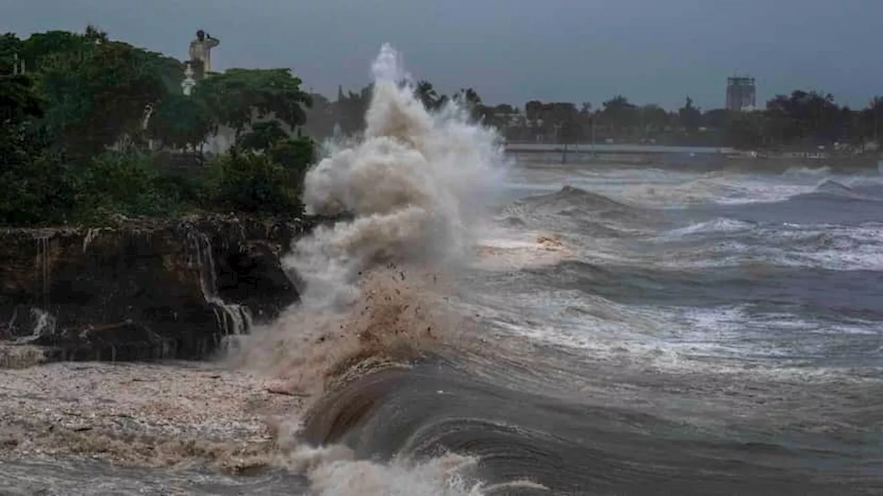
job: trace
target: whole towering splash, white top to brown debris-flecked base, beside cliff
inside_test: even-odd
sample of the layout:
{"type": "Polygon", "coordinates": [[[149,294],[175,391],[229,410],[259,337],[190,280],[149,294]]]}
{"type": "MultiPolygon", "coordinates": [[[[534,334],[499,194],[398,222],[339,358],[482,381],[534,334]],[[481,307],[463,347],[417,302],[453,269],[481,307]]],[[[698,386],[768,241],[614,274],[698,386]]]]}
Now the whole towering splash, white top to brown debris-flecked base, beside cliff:
{"type": "Polygon", "coordinates": [[[284,264],[306,283],[302,301],[257,329],[240,356],[305,393],[322,389],[308,384],[321,380],[318,369],[372,356],[389,336],[416,344],[444,334],[438,293],[472,253],[505,172],[499,136],[455,103],[427,112],[396,50],[384,45],[373,71],[364,134],[332,149],[305,179],[308,212],[352,219],[292,247],[284,264]]]}

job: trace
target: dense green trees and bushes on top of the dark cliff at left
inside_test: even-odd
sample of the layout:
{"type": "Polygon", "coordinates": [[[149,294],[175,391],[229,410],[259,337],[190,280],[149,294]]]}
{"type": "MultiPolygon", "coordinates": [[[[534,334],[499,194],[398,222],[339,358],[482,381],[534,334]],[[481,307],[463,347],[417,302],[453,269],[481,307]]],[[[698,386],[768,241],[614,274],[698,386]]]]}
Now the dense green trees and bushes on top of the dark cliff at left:
{"type": "Polygon", "coordinates": [[[314,157],[312,140],[291,137],[311,101],[300,79],[288,69],[233,69],[186,96],[184,70],[92,27],[0,35],[0,225],[217,209],[300,214],[314,157]],[[206,156],[204,143],[223,126],[237,146],[206,156]]]}

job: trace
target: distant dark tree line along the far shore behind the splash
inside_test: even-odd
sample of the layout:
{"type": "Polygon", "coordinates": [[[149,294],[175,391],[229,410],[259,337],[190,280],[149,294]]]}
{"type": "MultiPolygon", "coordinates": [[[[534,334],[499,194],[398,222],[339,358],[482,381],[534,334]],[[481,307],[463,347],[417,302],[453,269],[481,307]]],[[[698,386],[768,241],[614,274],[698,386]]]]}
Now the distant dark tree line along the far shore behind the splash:
{"type": "MultiPolygon", "coordinates": [[[[617,95],[600,106],[591,102],[527,101],[522,108],[486,105],[472,88],[448,96],[422,80],[415,93],[426,109],[440,109],[461,101],[472,116],[496,127],[513,142],[654,143],[676,146],[789,149],[831,147],[835,143],[861,147],[879,142],[883,125],[883,97],[874,97],[864,109],[850,109],[831,94],[795,90],[766,102],[766,109],[730,111],[698,108],[690,97],[676,111],[659,105],[637,105],[617,95]]],[[[332,134],[335,124],[344,133],[358,132],[370,98],[370,86],[344,94],[336,101],[313,95],[306,128],[315,136],[332,134]]]]}

